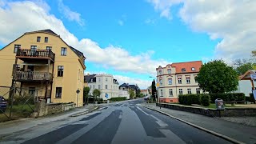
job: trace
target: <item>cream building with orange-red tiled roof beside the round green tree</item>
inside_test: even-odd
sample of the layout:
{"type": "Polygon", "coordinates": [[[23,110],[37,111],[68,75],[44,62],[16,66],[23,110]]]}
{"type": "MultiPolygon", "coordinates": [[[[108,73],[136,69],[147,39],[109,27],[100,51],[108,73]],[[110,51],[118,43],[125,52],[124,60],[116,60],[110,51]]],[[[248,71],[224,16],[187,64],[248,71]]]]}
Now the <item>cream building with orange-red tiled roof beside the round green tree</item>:
{"type": "Polygon", "coordinates": [[[198,82],[195,81],[201,61],[178,62],[168,64],[166,67],[159,66],[157,81],[160,86],[158,95],[160,102],[178,102],[178,94],[200,94],[198,82]]]}

